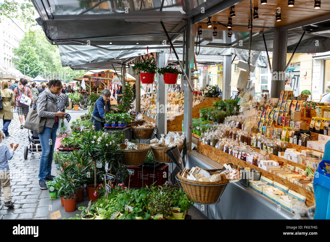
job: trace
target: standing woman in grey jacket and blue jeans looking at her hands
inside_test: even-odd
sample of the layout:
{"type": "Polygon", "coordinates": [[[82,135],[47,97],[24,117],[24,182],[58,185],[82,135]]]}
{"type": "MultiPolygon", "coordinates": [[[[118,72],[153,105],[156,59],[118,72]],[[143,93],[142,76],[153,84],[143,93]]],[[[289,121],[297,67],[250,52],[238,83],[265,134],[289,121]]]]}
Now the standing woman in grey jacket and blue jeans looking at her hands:
{"type": "Polygon", "coordinates": [[[38,133],[42,148],[39,163],[39,187],[47,189],[46,181],[52,181],[51,163],[56,142],[57,122],[59,118],[64,119],[64,112],[57,112],[57,99],[62,90],[62,83],[57,79],[50,79],[48,87],[44,92],[38,95],[36,104],[40,117],[46,119],[44,132],[38,133]]]}

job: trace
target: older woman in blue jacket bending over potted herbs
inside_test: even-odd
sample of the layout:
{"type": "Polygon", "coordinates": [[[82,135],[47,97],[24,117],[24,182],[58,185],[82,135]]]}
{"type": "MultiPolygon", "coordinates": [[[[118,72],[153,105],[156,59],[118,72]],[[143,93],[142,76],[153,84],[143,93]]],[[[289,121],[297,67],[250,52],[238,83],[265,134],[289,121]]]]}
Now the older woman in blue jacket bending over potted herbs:
{"type": "Polygon", "coordinates": [[[102,91],[102,96],[99,97],[94,106],[92,113],[92,123],[95,126],[95,131],[99,131],[104,127],[105,119],[104,115],[110,110],[118,112],[118,108],[110,105],[111,92],[108,89],[102,91]]]}

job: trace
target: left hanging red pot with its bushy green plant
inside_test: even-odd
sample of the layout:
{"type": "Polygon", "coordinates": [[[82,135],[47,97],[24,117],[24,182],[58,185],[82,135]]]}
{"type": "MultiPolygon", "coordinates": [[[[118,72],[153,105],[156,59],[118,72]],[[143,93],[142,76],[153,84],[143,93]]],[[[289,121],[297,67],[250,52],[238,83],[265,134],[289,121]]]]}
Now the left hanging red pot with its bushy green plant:
{"type": "Polygon", "coordinates": [[[140,74],[141,83],[151,84],[154,81],[155,73],[158,68],[154,58],[141,60],[135,63],[133,70],[137,70],[137,74],[140,74]]]}

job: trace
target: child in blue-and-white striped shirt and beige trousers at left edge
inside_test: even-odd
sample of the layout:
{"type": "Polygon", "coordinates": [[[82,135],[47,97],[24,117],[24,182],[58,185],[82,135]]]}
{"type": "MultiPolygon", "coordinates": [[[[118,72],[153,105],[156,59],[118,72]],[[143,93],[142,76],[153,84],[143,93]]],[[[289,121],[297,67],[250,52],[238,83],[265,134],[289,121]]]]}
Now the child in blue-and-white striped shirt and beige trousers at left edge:
{"type": "MultiPolygon", "coordinates": [[[[0,130],[0,143],[2,142],[2,130],[0,130]]],[[[14,207],[11,197],[10,176],[8,160],[14,156],[15,147],[9,150],[8,146],[0,145],[0,194],[1,186],[3,188],[3,195],[5,197],[4,203],[6,207],[14,207]]],[[[1,202],[1,201],[0,201],[1,202]]]]}

